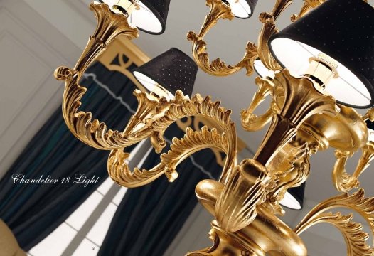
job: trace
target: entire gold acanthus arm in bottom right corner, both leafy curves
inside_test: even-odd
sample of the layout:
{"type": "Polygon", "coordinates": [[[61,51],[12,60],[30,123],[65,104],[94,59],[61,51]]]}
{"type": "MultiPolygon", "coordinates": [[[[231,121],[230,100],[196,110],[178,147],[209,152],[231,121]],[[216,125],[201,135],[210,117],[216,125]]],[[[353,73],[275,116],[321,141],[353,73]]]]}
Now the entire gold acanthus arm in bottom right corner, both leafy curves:
{"type": "Polygon", "coordinates": [[[370,249],[365,243],[368,235],[363,233],[362,225],[352,223],[350,215],[347,217],[340,214],[332,215],[325,213],[332,208],[348,208],[349,210],[356,211],[368,223],[372,235],[374,234],[374,198],[365,198],[362,188],[358,189],[351,196],[348,193],[343,193],[319,203],[296,226],[294,229],[295,233],[299,235],[317,223],[328,222],[335,225],[343,233],[348,248],[348,255],[373,255],[374,250],[370,249]]]}

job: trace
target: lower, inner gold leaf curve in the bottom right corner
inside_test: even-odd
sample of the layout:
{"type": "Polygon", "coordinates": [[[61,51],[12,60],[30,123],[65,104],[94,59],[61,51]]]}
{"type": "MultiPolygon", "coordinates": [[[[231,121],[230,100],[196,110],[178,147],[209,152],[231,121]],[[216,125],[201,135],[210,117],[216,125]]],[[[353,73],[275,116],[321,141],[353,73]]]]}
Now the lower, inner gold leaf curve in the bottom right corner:
{"type": "MultiPolygon", "coordinates": [[[[341,213],[321,213],[309,219],[308,223],[305,223],[305,225],[311,223],[312,225],[319,223],[329,223],[334,225],[341,231],[341,234],[346,241],[348,256],[372,255],[370,246],[366,244],[366,240],[369,238],[368,233],[363,232],[363,225],[355,223],[352,220],[352,214],[341,215],[341,213]]],[[[302,231],[303,230],[299,230],[298,234],[302,233],[302,231]]]]}

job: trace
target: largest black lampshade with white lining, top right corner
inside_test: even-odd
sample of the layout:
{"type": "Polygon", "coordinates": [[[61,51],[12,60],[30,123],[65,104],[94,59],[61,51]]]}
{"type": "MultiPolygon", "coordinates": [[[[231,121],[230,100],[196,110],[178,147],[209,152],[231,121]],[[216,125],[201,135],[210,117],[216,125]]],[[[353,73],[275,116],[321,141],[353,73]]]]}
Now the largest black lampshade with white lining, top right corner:
{"type": "Polygon", "coordinates": [[[336,61],[339,78],[326,92],[349,107],[373,106],[374,9],[362,0],[327,0],[274,34],[269,46],[278,62],[304,75],[309,58],[324,53],[336,61]]]}

